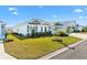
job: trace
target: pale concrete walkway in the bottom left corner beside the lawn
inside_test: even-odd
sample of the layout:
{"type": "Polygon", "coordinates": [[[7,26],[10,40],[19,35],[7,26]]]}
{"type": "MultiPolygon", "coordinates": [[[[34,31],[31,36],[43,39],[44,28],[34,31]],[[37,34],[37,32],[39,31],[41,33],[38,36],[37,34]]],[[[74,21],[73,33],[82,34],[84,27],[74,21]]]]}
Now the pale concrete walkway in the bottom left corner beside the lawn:
{"type": "Polygon", "coordinates": [[[3,43],[0,42],[0,59],[15,59],[14,57],[10,56],[9,54],[4,53],[3,43]]]}

